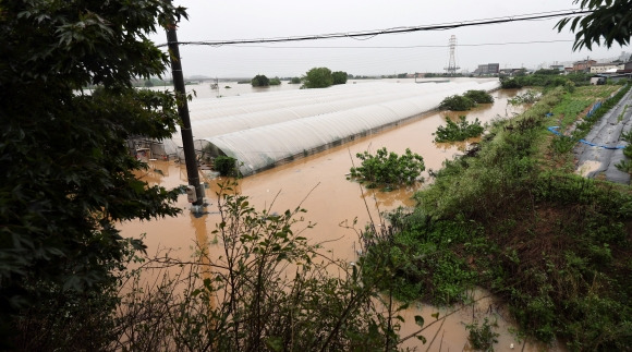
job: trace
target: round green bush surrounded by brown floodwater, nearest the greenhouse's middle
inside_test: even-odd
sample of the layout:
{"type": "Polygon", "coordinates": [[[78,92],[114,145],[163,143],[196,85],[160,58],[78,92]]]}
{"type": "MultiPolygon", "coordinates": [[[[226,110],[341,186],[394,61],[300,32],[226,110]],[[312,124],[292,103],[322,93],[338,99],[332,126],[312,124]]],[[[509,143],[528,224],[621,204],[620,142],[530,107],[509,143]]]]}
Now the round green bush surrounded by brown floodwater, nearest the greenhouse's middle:
{"type": "Polygon", "coordinates": [[[390,190],[412,184],[425,170],[424,159],[409,148],[402,156],[388,153],[386,147],[378,149],[375,155],[364,151],[355,156],[362,160],[362,166],[351,168],[351,177],[367,182],[368,187],[384,185],[390,190]]]}

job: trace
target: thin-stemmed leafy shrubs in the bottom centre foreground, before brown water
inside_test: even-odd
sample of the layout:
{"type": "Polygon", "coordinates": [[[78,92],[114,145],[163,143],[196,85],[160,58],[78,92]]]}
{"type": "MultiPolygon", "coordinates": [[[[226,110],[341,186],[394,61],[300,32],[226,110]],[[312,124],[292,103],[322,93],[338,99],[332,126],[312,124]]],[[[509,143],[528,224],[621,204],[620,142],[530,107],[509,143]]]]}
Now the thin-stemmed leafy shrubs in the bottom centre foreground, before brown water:
{"type": "Polygon", "coordinates": [[[232,186],[220,185],[212,231],[222,254],[199,243],[191,263],[148,259],[167,279],[127,290],[114,350],[394,351],[406,305],[378,291],[392,272],[323,256],[303,236],[305,209],[256,210],[232,186]]]}

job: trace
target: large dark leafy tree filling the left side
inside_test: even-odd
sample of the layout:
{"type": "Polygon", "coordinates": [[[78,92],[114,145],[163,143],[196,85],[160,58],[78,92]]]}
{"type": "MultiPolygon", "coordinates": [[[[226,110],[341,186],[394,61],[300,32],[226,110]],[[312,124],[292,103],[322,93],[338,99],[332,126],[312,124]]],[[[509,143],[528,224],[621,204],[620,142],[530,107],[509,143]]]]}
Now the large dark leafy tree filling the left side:
{"type": "MultiPolygon", "coordinates": [[[[85,315],[101,308],[90,304],[108,294],[116,299],[112,270],[127,254],[144,250],[141,240],[123,239],[114,224],[179,213],[171,205],[179,191],[136,179],[134,172],[146,165],[125,141],[160,139],[175,131],[175,97],[136,90],[132,82],[163,73],[169,57],[146,34],[157,31],[157,20],[165,26],[186,13],[162,0],[0,7],[0,100],[11,101],[0,107],[4,350],[2,343],[17,338],[17,323],[37,314],[66,314],[60,325],[78,321],[75,327],[85,329],[85,315]],[[94,94],[83,88],[93,85],[98,86],[94,94]]],[[[107,324],[108,307],[95,324],[107,324]]],[[[38,341],[51,336],[44,318],[32,320],[40,327],[38,341]]],[[[73,350],[69,339],[92,343],[96,338],[86,341],[84,330],[66,332],[56,337],[64,342],[54,349],[73,350]]]]}

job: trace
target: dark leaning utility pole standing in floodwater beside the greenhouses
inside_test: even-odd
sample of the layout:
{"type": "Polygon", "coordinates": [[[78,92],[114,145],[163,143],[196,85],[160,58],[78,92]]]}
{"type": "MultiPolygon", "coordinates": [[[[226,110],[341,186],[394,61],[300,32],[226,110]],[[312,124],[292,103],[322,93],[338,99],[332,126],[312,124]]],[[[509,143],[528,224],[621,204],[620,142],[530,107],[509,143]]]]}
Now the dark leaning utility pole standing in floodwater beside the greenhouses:
{"type": "MultiPolygon", "coordinates": [[[[200,206],[204,202],[204,190],[199,185],[199,174],[197,161],[195,159],[195,147],[193,145],[193,131],[191,130],[191,119],[189,117],[189,105],[186,104],[186,89],[184,88],[184,75],[182,74],[182,62],[180,61],[180,48],[178,47],[177,25],[169,24],[167,27],[167,44],[169,47],[169,58],[171,59],[171,74],[173,75],[173,87],[178,101],[178,113],[182,119],[182,147],[184,149],[184,161],[186,163],[186,175],[190,186],[195,189],[195,199],[191,202],[194,206],[200,206]]],[[[195,207],[194,207],[195,208],[195,207]]]]}

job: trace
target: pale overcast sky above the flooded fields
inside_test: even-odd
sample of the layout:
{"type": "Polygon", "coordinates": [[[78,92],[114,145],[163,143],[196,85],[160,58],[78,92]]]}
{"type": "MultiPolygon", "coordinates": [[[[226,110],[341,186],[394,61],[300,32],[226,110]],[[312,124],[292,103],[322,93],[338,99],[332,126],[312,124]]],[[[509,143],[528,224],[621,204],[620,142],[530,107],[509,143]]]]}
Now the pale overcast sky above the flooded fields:
{"type": "MultiPolygon", "coordinates": [[[[485,20],[576,9],[572,0],[173,0],[189,8],[190,19],[178,31],[180,41],[256,39],[386,29],[485,20]]],[[[564,61],[619,57],[629,47],[572,51],[573,34],[554,29],[555,20],[495,24],[449,31],[379,35],[301,43],[180,48],[185,76],[252,77],[256,74],[301,76],[327,66],[354,75],[442,72],[448,65],[448,41],[457,36],[457,64],[473,71],[481,63],[500,68],[539,68],[564,61]],[[508,44],[569,40],[549,44],[508,44]],[[417,46],[417,47],[414,47],[417,46]],[[437,47],[434,47],[437,46],[437,47]],[[408,48],[385,48],[408,47],[408,48]]],[[[151,36],[157,44],[166,35],[151,36]]]]}

